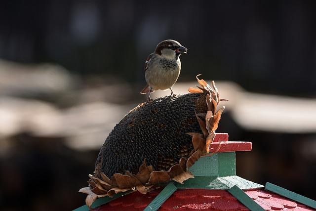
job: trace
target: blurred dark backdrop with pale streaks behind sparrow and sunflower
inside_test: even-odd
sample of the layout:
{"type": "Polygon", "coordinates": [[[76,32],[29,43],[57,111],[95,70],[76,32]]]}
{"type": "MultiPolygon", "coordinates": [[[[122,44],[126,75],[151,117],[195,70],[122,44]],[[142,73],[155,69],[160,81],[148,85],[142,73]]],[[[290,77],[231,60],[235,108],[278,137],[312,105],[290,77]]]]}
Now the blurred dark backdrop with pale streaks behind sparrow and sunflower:
{"type": "Polygon", "coordinates": [[[313,0],[1,2],[1,210],[84,204],[78,190],[146,100],[144,61],[165,39],[189,49],[176,93],[201,73],[230,99],[217,132],[253,143],[237,175],[315,199],[315,11],[313,0]]]}

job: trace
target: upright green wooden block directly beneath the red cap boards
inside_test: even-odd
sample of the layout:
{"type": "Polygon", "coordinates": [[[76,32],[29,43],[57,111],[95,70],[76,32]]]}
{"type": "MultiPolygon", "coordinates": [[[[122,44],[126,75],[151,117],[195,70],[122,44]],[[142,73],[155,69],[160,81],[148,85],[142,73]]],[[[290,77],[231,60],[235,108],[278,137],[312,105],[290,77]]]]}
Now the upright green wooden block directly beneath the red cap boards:
{"type": "Polygon", "coordinates": [[[190,168],[195,176],[232,176],[236,175],[236,153],[217,153],[201,157],[190,168]]]}

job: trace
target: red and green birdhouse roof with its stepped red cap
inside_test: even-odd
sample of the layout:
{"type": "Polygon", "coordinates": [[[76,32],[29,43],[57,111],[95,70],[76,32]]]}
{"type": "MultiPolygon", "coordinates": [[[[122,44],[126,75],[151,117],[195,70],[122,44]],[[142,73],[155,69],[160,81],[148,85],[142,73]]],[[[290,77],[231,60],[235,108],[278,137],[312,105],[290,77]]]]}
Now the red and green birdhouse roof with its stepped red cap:
{"type": "MultiPolygon", "coordinates": [[[[201,157],[190,171],[195,176],[183,184],[169,182],[148,194],[138,191],[116,194],[95,201],[93,211],[312,211],[316,201],[278,187],[265,186],[236,175],[236,151],[250,151],[251,142],[229,141],[227,133],[216,133],[209,156],[201,157]]],[[[76,211],[88,211],[82,206],[76,211]]]]}

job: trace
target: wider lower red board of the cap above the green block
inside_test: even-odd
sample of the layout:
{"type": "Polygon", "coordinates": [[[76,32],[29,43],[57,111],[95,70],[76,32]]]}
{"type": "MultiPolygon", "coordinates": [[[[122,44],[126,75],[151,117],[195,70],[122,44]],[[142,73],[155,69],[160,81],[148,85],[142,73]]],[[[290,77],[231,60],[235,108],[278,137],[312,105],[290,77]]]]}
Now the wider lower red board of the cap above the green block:
{"type": "Polygon", "coordinates": [[[252,143],[245,141],[219,141],[209,146],[210,152],[251,151],[252,143]]]}

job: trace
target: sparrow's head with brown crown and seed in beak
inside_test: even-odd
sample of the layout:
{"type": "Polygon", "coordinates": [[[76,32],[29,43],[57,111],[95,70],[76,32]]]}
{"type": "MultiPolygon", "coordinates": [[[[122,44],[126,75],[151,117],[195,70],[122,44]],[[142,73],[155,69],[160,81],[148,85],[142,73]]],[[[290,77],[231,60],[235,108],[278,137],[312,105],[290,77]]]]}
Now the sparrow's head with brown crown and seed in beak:
{"type": "Polygon", "coordinates": [[[174,40],[159,42],[155,53],[167,59],[179,58],[181,53],[188,53],[188,49],[174,40]]]}

